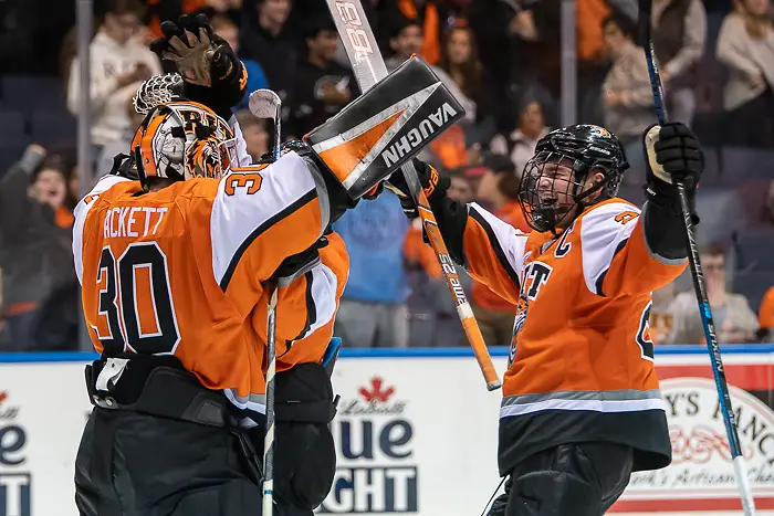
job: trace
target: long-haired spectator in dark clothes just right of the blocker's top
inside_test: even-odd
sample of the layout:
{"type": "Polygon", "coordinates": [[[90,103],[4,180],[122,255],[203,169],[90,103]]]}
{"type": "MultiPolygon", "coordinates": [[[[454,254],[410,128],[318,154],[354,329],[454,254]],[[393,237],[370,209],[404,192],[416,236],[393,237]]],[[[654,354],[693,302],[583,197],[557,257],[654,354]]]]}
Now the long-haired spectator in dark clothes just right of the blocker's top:
{"type": "Polygon", "coordinates": [[[468,146],[489,140],[494,133],[490,80],[479,61],[475,35],[470,28],[454,27],[446,33],[438,67],[444,71],[464,96],[475,105],[475,123],[467,131],[468,146]]]}

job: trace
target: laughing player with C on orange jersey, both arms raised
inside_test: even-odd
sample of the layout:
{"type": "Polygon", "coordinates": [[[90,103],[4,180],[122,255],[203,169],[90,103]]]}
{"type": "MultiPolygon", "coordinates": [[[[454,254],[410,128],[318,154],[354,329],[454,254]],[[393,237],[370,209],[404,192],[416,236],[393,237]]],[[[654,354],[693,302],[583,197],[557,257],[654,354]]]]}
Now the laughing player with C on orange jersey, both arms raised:
{"type": "MultiPolygon", "coordinates": [[[[618,139],[576,125],[540,140],[520,198],[522,234],[420,176],[452,257],[517,306],[500,409],[499,468],[509,476],[492,516],[599,516],[634,471],[671,461],[648,329],[650,293],[686,267],[676,180],[690,199],[703,170],[682,124],[647,133],[642,210],[616,198],[628,164],[618,139]]],[[[402,177],[390,178],[406,194],[402,177]]],[[[409,217],[416,207],[404,199],[409,217]]]]}

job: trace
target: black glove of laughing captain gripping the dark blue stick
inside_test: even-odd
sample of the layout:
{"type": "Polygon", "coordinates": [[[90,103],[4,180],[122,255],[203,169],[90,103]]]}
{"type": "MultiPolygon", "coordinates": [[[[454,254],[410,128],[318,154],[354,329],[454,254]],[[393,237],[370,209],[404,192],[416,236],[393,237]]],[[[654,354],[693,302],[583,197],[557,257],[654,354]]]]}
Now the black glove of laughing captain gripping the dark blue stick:
{"type": "Polygon", "coordinates": [[[679,122],[652,125],[645,131],[644,146],[648,198],[680,213],[676,185],[681,182],[693,209],[695,188],[704,171],[704,155],[695,135],[679,122]]]}

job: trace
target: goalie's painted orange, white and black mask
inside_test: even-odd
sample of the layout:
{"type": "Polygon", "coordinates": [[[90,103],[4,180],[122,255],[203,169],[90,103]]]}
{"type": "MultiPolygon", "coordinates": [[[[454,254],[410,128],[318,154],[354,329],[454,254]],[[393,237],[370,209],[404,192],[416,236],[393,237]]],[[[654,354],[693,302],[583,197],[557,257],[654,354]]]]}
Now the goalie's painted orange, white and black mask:
{"type": "Polygon", "coordinates": [[[237,140],[229,124],[192,102],[153,108],[132,140],[132,152],[144,187],[150,177],[218,179],[238,162],[237,140]]]}

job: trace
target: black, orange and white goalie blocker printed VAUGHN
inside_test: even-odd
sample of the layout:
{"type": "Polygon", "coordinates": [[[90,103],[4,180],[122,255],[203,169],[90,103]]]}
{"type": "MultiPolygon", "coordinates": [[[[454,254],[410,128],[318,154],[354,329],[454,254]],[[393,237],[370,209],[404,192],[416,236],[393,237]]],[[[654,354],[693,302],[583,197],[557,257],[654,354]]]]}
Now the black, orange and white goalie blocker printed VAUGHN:
{"type": "Polygon", "coordinates": [[[411,57],[304,140],[359,199],[463,116],[432,70],[411,57]]]}

